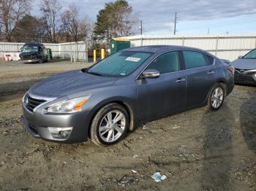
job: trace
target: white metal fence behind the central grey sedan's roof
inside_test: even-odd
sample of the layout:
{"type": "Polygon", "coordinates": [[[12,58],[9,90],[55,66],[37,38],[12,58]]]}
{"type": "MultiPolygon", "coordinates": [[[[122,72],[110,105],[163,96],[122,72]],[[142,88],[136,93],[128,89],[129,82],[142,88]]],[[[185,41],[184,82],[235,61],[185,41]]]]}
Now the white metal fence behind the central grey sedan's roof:
{"type": "Polygon", "coordinates": [[[230,61],[256,48],[256,34],[248,35],[142,35],[127,36],[132,47],[143,45],[179,45],[206,50],[230,61]]]}

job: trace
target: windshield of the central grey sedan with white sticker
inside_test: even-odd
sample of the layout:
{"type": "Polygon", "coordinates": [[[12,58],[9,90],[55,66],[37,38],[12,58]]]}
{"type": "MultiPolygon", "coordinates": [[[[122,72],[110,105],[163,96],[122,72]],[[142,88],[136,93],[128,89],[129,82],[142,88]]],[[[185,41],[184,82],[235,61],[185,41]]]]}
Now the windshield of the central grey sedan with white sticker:
{"type": "Polygon", "coordinates": [[[87,72],[110,77],[124,77],[135,71],[151,55],[150,52],[121,51],[105,58],[87,72]]]}

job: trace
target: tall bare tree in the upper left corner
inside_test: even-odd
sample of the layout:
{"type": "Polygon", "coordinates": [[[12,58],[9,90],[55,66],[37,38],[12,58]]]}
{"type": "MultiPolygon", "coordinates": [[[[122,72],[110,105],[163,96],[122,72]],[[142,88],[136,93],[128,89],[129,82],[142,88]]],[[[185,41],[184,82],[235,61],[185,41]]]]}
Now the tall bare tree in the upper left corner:
{"type": "Polygon", "coordinates": [[[0,28],[7,42],[12,42],[18,21],[29,13],[29,0],[0,0],[0,28]]]}

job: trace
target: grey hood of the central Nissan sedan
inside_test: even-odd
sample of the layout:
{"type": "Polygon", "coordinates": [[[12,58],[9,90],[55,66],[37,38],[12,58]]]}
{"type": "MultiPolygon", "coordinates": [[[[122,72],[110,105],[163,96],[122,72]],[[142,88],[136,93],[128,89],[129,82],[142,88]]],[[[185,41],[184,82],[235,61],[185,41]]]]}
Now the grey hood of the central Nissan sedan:
{"type": "Polygon", "coordinates": [[[80,70],[68,71],[48,77],[31,87],[29,93],[40,96],[60,97],[86,90],[112,85],[114,77],[100,77],[80,70]]]}

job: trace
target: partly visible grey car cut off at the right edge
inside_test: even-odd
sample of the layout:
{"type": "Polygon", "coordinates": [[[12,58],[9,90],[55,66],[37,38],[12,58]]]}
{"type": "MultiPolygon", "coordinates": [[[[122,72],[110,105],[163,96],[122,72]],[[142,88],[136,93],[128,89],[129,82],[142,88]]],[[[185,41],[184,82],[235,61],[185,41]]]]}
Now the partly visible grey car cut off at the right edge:
{"type": "Polygon", "coordinates": [[[256,85],[256,49],[244,56],[239,56],[230,64],[235,67],[235,82],[237,84],[256,85]]]}

